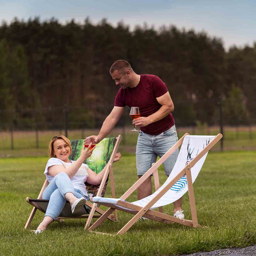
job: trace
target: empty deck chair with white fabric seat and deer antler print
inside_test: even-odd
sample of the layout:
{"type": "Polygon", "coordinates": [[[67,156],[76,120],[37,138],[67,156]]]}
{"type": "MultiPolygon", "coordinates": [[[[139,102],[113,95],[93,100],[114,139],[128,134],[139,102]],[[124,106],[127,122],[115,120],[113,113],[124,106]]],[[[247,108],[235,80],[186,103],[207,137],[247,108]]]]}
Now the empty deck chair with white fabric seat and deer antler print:
{"type": "Polygon", "coordinates": [[[105,205],[110,208],[93,223],[89,230],[92,231],[97,228],[115,209],[134,214],[134,217],[118,231],[118,235],[124,234],[129,230],[140,217],[146,217],[163,223],[177,222],[190,227],[199,227],[200,225],[197,222],[193,182],[201,170],[208,151],[221,138],[222,134],[218,134],[217,136],[201,136],[189,135],[186,133],[120,198],[94,197],[94,203],[105,205]],[[165,183],[159,188],[157,169],[177,148],[180,147],[180,145],[180,152],[173,170],[165,183]],[[141,186],[151,174],[153,174],[155,181],[155,193],[132,203],[125,201],[125,199],[141,186]],[[163,213],[164,205],[177,201],[187,191],[189,193],[192,220],[181,220],[172,215],[163,213]],[[155,211],[154,209],[156,208],[159,208],[159,210],[155,211]]]}

